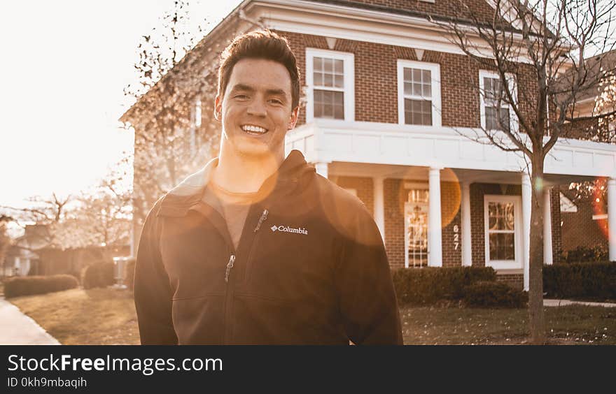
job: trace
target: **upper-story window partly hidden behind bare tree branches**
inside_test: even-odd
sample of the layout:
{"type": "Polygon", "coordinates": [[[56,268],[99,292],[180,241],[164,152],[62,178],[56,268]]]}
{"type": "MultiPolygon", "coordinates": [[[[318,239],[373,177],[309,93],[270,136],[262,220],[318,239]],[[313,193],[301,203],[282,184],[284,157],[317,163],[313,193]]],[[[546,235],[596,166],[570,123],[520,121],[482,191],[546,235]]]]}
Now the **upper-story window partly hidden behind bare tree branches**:
{"type": "MultiPolygon", "coordinates": [[[[507,74],[507,78],[508,87],[514,99],[517,99],[513,75],[507,74]]],[[[479,97],[481,99],[481,125],[484,129],[508,131],[516,128],[512,108],[505,102],[505,92],[497,73],[479,71],[479,97]]]]}

